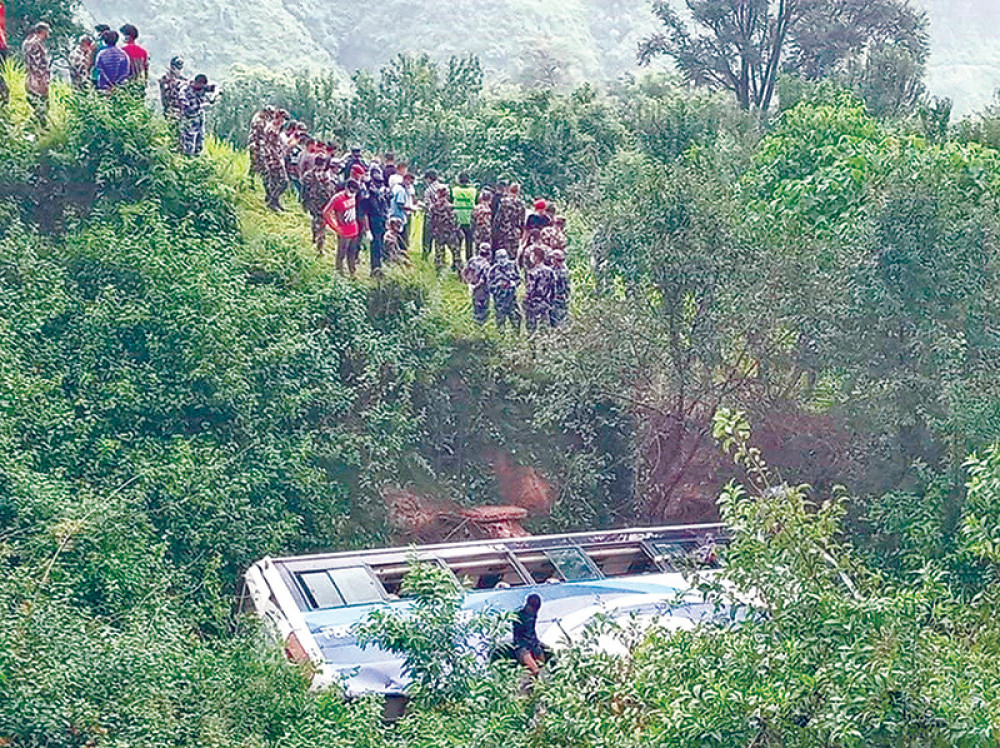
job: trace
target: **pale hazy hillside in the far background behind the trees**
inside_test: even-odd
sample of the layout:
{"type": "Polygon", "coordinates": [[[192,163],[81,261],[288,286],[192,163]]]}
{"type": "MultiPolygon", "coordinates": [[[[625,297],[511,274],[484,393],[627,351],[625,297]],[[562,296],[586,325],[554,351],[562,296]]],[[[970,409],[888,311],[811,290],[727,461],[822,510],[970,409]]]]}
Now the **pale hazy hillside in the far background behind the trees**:
{"type": "MultiPolygon", "coordinates": [[[[931,91],[959,113],[1000,87],[1000,3],[919,0],[931,16],[931,91]]],[[[495,79],[578,82],[635,69],[655,28],[648,0],[84,0],[92,17],[136,23],[157,68],[172,54],[224,74],[271,68],[375,68],[397,52],[473,52],[495,79]]]]}

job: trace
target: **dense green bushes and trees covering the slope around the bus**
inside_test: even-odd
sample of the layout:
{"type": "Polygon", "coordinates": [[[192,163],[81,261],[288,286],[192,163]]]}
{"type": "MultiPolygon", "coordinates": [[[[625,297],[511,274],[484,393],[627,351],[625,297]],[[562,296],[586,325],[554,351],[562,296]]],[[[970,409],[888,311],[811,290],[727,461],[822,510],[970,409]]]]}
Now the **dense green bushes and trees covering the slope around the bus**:
{"type": "Polygon", "coordinates": [[[231,140],[278,90],[330,137],[557,196],[574,322],[528,342],[425,263],[336,276],[231,142],[184,160],[127,95],[58,85],[39,132],[6,75],[0,745],[1000,741],[995,112],[827,80],[761,121],[657,76],[489,93],[419,56],[343,97],[230,89],[231,140]],[[418,569],[413,616],[368,626],[420,687],[392,726],[237,614],[252,561],[396,539],[388,486],[492,503],[498,456],[555,487],[539,531],[718,512],[707,593],[757,614],[595,631],[630,656],[566,652],[525,694],[461,646],[496,622],[418,569]]]}

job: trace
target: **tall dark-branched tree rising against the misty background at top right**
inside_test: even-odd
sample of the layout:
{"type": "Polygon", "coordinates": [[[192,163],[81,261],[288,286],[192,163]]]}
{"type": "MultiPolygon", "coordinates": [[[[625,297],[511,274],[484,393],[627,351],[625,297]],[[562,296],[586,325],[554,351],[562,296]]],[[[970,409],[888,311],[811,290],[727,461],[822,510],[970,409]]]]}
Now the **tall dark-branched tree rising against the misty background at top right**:
{"type": "Polygon", "coordinates": [[[819,78],[873,47],[899,44],[922,64],[927,19],[909,0],[685,0],[654,14],[666,30],[645,39],[639,61],[674,60],[691,82],[731,91],[766,111],[780,73],[819,78]]]}

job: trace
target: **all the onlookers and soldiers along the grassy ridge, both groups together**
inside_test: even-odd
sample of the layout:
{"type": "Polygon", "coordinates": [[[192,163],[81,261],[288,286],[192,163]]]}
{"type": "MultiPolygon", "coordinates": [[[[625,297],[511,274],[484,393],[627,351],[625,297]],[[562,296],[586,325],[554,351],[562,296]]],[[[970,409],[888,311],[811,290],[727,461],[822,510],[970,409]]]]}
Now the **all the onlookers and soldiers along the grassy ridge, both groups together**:
{"type": "MultiPolygon", "coordinates": [[[[77,40],[69,54],[70,79],[78,90],[117,89],[145,98],[149,53],[139,30],[106,24],[77,40]]],[[[42,127],[48,119],[52,64],[50,29],[37,23],[22,45],[25,93],[42,127]]],[[[8,54],[6,8],[0,0],[0,60],[8,54]]],[[[173,123],[185,155],[197,156],[205,142],[206,110],[215,87],[205,75],[188,80],[184,60],[174,57],[159,80],[163,114],[173,123]]],[[[0,76],[0,105],[8,91],[0,76]]],[[[514,331],[522,321],[529,332],[558,327],[568,316],[570,279],[566,266],[565,220],[546,200],[529,211],[516,183],[477,186],[467,172],[449,185],[433,169],[419,182],[391,153],[366,161],[362,149],[338,155],[336,147],[309,134],[301,122],[275,107],[258,111],[250,124],[251,174],[264,184],[267,206],[282,210],[293,190],[312,220],[317,251],[326,249],[327,231],[336,237],[336,266],[352,278],[363,242],[369,245],[373,276],[390,264],[410,264],[413,244],[439,269],[450,265],[469,285],[473,316],[490,317],[514,331]],[[419,193],[419,197],[418,197],[419,193]],[[523,292],[519,294],[519,290],[523,292]],[[520,295],[520,298],[519,298],[520,295]]]]}

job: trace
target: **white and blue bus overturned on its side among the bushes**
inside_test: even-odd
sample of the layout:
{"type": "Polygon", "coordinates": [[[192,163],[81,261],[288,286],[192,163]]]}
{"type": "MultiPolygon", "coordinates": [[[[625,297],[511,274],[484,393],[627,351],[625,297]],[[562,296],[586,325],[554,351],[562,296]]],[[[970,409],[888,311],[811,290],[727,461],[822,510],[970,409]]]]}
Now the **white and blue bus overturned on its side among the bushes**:
{"type": "Polygon", "coordinates": [[[265,558],[247,571],[246,594],[288,657],[313,664],[315,686],[396,696],[401,661],[359,647],[353,628],[377,607],[408,604],[400,587],[414,559],[453,574],[469,611],[513,611],[537,593],[539,638],[558,650],[597,616],[673,628],[712,618],[682,572],[712,574],[723,541],[722,525],[686,525],[265,558]]]}

